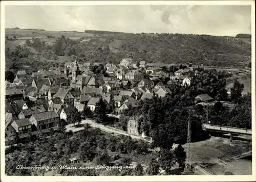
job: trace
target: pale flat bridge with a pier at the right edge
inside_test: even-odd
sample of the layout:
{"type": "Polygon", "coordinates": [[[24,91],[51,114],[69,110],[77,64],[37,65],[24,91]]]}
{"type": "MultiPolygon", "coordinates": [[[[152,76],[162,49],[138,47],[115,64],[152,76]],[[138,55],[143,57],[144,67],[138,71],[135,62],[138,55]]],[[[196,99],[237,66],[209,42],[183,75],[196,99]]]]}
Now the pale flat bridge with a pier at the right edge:
{"type": "Polygon", "coordinates": [[[214,124],[203,123],[202,128],[204,131],[214,131],[220,133],[230,134],[230,142],[233,140],[233,134],[237,135],[251,135],[251,129],[231,127],[231,126],[221,126],[214,124]]]}

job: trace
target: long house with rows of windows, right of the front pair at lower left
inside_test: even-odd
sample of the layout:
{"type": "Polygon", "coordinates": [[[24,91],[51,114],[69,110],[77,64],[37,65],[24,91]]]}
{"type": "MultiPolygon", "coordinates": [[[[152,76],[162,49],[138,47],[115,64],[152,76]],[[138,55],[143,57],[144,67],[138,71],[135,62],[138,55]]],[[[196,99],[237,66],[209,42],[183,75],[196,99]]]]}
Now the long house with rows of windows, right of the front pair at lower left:
{"type": "Polygon", "coordinates": [[[42,129],[58,126],[59,116],[55,111],[48,111],[33,114],[29,120],[37,127],[37,131],[41,131],[42,129]]]}

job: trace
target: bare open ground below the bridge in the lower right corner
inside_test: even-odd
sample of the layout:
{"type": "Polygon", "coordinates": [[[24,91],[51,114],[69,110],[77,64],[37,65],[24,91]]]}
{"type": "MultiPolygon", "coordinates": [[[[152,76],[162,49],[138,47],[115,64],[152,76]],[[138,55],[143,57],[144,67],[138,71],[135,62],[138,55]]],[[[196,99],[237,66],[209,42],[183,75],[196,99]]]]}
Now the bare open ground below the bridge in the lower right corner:
{"type": "MultiPolygon", "coordinates": [[[[183,146],[185,147],[186,144],[183,146]]],[[[251,150],[251,142],[211,137],[208,140],[191,143],[191,161],[206,166],[205,170],[217,175],[231,172],[235,175],[250,175],[252,163],[249,160],[239,159],[229,162],[230,166],[220,163],[218,158],[225,160],[251,150]]]]}

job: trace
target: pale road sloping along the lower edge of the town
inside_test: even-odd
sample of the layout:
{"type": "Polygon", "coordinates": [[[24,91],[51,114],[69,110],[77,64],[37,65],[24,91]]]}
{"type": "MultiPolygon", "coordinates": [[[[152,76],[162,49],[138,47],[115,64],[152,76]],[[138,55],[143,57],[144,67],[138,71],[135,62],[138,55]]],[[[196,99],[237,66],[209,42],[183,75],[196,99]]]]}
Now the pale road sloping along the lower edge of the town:
{"type": "MultiPolygon", "coordinates": [[[[89,119],[82,120],[82,121],[81,121],[81,124],[82,124],[82,125],[83,125],[83,124],[89,124],[91,127],[99,128],[99,129],[101,129],[101,130],[104,131],[104,132],[114,133],[114,134],[118,134],[118,135],[130,136],[130,137],[133,138],[133,139],[143,140],[143,141],[152,143],[152,141],[145,140],[145,139],[143,139],[142,137],[127,134],[126,132],[124,132],[124,131],[122,131],[122,130],[120,130],[120,129],[116,129],[116,128],[110,127],[110,126],[105,126],[105,125],[103,125],[103,124],[96,123],[96,122],[94,122],[93,120],[89,120],[89,119]]],[[[67,131],[66,131],[66,132],[69,132],[69,131],[77,132],[77,131],[81,131],[81,130],[83,129],[83,127],[74,127],[74,124],[68,124],[68,125],[66,125],[66,128],[67,128],[67,131]]]]}

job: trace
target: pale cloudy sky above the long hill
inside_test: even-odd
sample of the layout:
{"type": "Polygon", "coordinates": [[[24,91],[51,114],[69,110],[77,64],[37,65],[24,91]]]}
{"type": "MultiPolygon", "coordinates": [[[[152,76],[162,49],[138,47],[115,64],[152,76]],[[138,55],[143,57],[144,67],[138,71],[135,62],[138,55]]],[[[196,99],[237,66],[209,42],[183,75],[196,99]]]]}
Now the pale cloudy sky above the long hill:
{"type": "Polygon", "coordinates": [[[230,5],[6,6],[5,28],[236,36],[251,33],[251,7],[230,5]]]}

